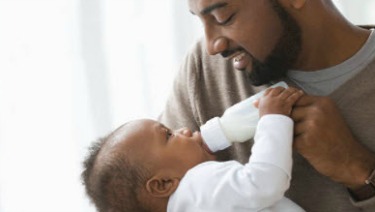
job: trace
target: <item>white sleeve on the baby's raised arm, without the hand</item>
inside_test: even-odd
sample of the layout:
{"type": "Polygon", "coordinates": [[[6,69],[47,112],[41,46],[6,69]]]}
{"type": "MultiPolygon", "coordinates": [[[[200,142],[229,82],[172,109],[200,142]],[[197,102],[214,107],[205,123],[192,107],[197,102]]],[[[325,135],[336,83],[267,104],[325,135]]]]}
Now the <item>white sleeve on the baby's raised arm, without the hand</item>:
{"type": "MultiPolygon", "coordinates": [[[[258,123],[246,171],[256,195],[256,207],[269,207],[289,188],[292,171],[293,121],[284,115],[265,115],[258,123]]],[[[240,183],[240,182],[238,182],[240,183]]],[[[250,189],[251,190],[251,189],[250,189]]]]}

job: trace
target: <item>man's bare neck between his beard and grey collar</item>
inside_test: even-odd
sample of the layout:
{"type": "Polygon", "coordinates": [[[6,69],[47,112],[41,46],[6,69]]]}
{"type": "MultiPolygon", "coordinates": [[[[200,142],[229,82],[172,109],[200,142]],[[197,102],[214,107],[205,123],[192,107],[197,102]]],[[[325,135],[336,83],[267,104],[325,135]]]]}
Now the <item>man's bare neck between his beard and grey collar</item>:
{"type": "Polygon", "coordinates": [[[370,35],[332,8],[314,16],[300,19],[302,49],[293,69],[315,71],[340,64],[357,53],[370,35]]]}

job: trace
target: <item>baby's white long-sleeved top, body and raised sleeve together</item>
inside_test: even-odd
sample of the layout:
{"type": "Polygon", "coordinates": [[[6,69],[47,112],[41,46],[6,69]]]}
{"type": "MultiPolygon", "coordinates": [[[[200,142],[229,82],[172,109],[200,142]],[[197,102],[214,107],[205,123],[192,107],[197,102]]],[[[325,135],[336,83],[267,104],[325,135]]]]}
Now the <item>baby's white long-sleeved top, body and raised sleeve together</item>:
{"type": "Polygon", "coordinates": [[[263,116],[249,163],[211,161],[196,166],[182,178],[168,211],[248,212],[277,209],[280,202],[299,208],[283,197],[291,175],[292,136],[290,118],[263,116]]]}

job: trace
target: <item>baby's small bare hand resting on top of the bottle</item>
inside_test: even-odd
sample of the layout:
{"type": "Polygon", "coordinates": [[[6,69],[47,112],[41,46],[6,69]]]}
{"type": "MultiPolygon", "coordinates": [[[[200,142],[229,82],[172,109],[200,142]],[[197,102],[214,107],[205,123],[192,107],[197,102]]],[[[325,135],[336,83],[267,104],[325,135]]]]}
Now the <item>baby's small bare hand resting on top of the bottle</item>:
{"type": "Polygon", "coordinates": [[[254,105],[259,108],[259,116],[281,114],[290,116],[293,105],[303,95],[303,91],[293,87],[268,88],[254,105]]]}

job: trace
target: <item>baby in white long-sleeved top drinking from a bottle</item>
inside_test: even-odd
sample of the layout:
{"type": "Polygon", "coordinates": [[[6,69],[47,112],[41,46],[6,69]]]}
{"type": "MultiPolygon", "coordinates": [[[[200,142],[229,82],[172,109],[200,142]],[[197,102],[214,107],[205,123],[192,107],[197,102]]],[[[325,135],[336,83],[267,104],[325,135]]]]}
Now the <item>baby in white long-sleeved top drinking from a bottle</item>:
{"type": "Polygon", "coordinates": [[[128,122],[100,139],[84,162],[86,192],[99,211],[304,211],[284,197],[292,169],[295,88],[269,88],[249,162],[217,162],[199,132],[153,120],[128,122]]]}

